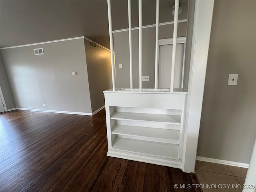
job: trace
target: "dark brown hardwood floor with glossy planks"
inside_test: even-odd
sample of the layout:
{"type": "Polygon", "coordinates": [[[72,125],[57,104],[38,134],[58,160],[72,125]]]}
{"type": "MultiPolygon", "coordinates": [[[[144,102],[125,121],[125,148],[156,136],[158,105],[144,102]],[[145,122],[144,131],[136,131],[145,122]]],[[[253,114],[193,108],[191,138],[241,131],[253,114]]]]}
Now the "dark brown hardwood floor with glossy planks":
{"type": "Polygon", "coordinates": [[[105,111],[0,114],[1,192],[171,192],[196,184],[180,169],[107,157],[105,111]]]}

